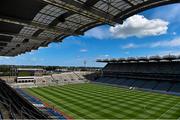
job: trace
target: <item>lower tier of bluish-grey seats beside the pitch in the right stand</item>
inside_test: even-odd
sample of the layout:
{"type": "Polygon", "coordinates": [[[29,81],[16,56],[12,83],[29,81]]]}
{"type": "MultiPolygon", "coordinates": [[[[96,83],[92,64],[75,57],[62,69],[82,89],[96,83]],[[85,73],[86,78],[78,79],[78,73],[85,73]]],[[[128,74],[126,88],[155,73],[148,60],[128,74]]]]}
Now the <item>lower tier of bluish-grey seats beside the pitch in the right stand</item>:
{"type": "Polygon", "coordinates": [[[124,87],[135,87],[147,90],[156,90],[162,92],[178,92],[180,93],[180,82],[159,81],[159,80],[139,80],[128,78],[101,77],[94,80],[96,83],[106,83],[119,85],[124,87]]]}

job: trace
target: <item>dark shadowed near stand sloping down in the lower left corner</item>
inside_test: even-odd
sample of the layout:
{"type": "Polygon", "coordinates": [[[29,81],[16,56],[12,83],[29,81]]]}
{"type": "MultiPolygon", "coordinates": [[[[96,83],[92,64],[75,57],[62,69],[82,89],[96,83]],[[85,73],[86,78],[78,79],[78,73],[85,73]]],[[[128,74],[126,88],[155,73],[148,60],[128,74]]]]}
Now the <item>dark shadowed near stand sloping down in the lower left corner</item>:
{"type": "Polygon", "coordinates": [[[0,80],[0,113],[3,119],[48,119],[14,89],[0,80]]]}

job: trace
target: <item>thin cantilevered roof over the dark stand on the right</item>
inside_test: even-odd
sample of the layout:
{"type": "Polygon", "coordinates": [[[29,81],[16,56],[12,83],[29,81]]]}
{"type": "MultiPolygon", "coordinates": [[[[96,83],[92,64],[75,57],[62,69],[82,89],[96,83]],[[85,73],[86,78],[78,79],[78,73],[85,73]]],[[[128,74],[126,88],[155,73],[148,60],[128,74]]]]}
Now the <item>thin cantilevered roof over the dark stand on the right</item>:
{"type": "Polygon", "coordinates": [[[179,56],[175,55],[165,55],[163,57],[160,56],[150,56],[150,57],[128,57],[128,58],[119,58],[119,59],[97,59],[97,62],[103,63],[134,63],[134,62],[173,62],[180,61],[179,56]]]}

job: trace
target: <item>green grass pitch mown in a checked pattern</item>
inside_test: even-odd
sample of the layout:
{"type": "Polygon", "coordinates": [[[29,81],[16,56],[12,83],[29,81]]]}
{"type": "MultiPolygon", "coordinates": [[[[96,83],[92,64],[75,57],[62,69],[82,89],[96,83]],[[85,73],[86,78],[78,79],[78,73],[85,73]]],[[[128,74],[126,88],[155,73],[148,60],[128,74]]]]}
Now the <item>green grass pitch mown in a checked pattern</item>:
{"type": "Polygon", "coordinates": [[[180,97],[100,84],[26,91],[75,119],[180,119],[180,97]]]}

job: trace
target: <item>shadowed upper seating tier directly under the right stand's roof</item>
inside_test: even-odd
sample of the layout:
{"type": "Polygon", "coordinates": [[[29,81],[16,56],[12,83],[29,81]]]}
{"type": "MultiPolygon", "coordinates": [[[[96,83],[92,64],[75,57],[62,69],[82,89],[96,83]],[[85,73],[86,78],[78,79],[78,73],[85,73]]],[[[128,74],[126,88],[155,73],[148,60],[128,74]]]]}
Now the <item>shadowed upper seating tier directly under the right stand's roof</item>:
{"type": "Polygon", "coordinates": [[[180,62],[108,63],[104,72],[180,74],[180,62]]]}

